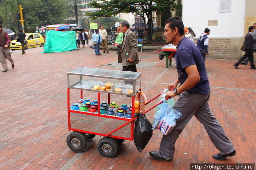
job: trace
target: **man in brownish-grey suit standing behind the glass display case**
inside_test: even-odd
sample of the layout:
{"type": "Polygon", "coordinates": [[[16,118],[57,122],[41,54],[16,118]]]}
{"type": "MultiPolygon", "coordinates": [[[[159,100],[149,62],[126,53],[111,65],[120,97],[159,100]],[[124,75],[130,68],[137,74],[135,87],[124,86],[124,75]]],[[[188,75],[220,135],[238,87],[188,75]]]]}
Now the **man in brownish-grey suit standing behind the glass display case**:
{"type": "Polygon", "coordinates": [[[123,71],[137,72],[136,64],[139,63],[137,39],[135,34],[129,29],[127,21],[121,21],[120,29],[124,34],[124,40],[121,44],[112,43],[119,48],[118,63],[122,63],[123,71]]]}

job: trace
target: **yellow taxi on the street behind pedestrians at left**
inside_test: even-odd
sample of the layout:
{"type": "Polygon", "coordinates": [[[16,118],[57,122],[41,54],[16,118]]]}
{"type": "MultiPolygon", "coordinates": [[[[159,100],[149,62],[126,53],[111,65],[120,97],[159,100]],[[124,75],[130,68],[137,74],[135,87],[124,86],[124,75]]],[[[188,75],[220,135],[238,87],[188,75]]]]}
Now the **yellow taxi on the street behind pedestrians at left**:
{"type": "MultiPolygon", "coordinates": [[[[25,39],[27,40],[27,44],[25,45],[25,50],[27,48],[35,48],[35,47],[44,47],[44,38],[42,37],[41,34],[39,33],[25,33],[26,37],[25,39]]],[[[22,45],[20,42],[15,40],[11,41],[10,44],[10,49],[11,50],[22,50],[22,45]]]]}

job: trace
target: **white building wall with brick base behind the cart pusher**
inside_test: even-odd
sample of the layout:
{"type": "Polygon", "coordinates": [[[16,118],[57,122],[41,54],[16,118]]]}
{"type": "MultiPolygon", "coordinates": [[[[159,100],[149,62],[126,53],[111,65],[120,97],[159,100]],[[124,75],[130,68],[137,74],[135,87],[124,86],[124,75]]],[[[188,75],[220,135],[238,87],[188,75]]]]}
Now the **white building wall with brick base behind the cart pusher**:
{"type": "Polygon", "coordinates": [[[210,58],[238,59],[249,26],[256,23],[255,0],[183,0],[182,20],[196,38],[210,29],[210,58]]]}

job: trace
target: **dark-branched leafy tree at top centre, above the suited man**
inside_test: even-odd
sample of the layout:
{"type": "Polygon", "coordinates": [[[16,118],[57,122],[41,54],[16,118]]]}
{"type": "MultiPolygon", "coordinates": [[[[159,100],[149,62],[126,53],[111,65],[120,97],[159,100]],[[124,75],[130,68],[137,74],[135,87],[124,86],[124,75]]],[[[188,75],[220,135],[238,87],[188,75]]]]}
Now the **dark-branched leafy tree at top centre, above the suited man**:
{"type": "MultiPolygon", "coordinates": [[[[152,13],[154,11],[170,10],[170,2],[174,4],[174,0],[110,0],[97,3],[93,1],[90,5],[94,8],[100,8],[97,12],[87,13],[88,16],[95,19],[97,17],[109,17],[116,16],[118,13],[133,13],[141,16],[150,28],[153,27],[152,13]]],[[[151,29],[150,29],[151,30],[151,29]]],[[[149,32],[149,38],[151,39],[152,32],[149,32]]]]}

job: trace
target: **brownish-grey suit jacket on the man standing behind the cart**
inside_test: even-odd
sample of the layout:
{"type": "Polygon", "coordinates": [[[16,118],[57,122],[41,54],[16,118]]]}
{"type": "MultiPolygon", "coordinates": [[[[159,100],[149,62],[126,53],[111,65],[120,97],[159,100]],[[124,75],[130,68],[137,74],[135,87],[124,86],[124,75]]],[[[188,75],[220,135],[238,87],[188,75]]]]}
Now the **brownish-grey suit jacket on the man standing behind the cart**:
{"type": "Polygon", "coordinates": [[[122,63],[122,66],[130,66],[139,63],[137,39],[131,29],[127,30],[127,35],[121,44],[118,44],[118,63],[122,63]],[[121,48],[120,48],[121,47],[121,48]],[[133,62],[126,61],[127,53],[130,55],[128,58],[133,59],[133,62]]]}

